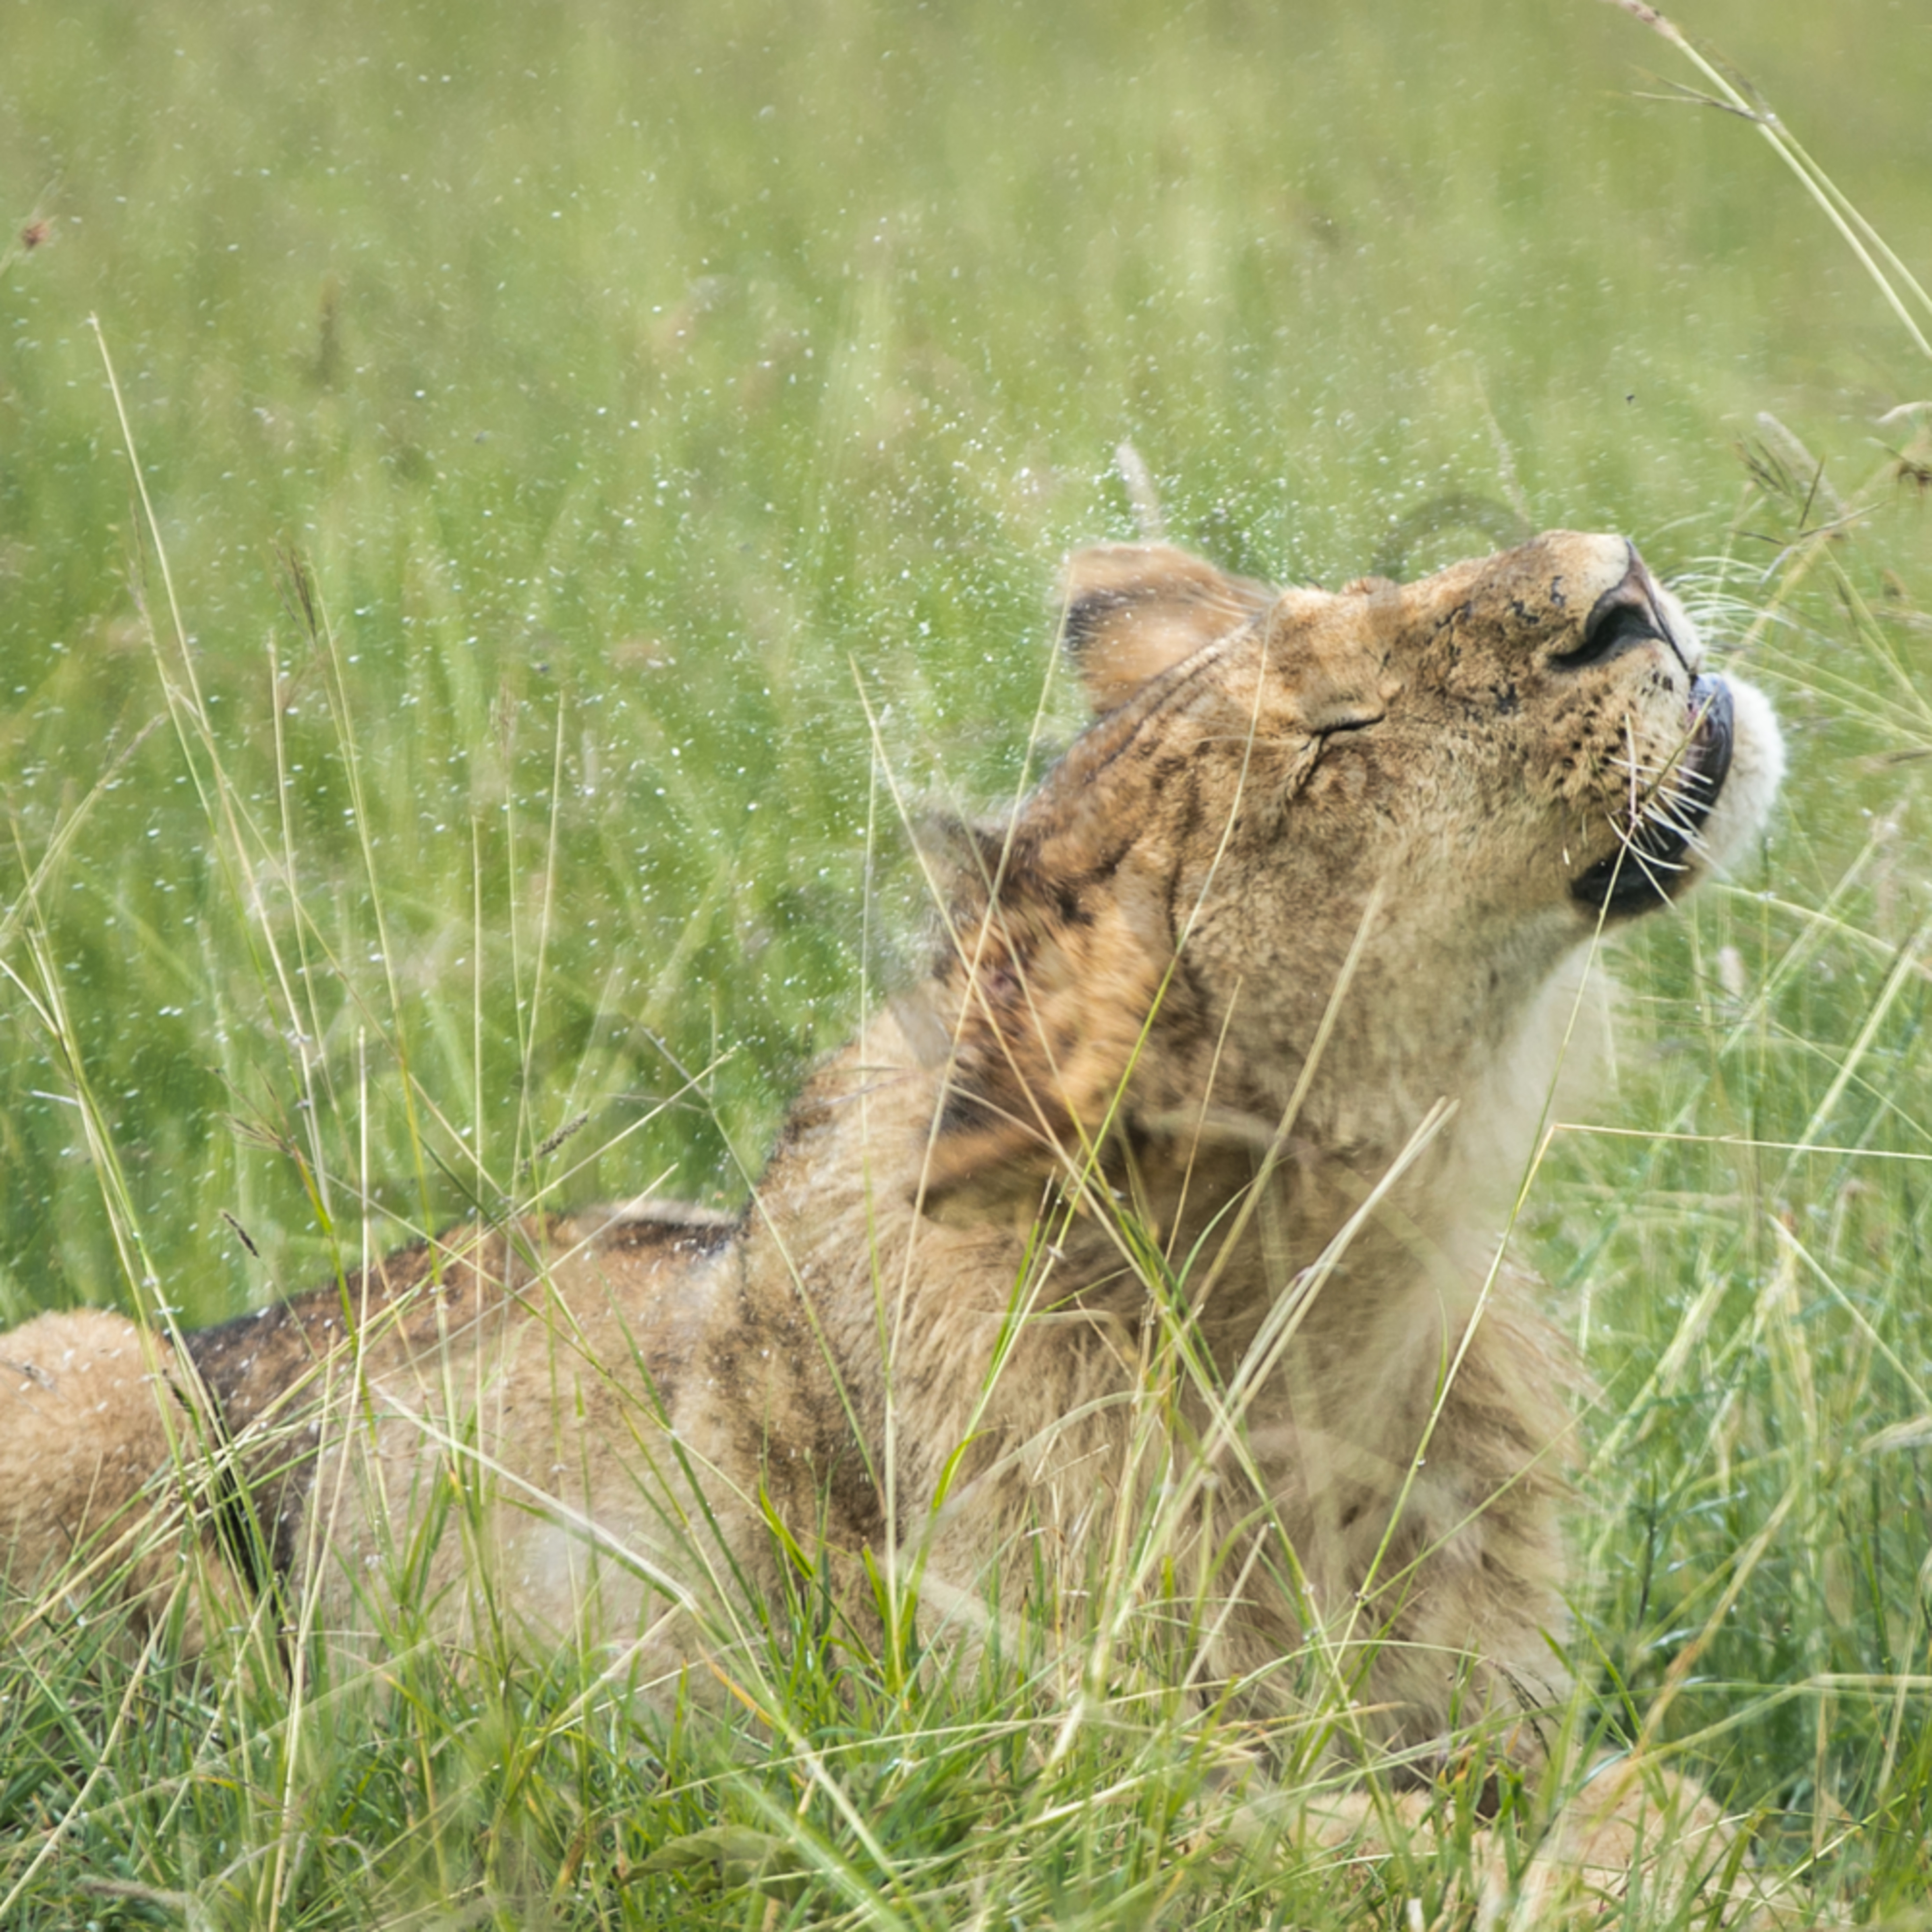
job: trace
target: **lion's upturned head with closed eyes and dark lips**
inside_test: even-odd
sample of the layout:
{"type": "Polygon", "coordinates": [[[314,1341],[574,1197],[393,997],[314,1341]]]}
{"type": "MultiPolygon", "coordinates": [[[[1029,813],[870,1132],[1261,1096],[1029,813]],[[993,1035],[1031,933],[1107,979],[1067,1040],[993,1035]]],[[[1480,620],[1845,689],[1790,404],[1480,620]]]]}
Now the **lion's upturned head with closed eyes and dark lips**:
{"type": "Polygon", "coordinates": [[[1623,537],[1337,593],[1119,545],[1063,611],[1099,717],[954,908],[941,1182],[1296,1092],[1385,1155],[1596,935],[1739,858],[1783,769],[1623,537]]]}

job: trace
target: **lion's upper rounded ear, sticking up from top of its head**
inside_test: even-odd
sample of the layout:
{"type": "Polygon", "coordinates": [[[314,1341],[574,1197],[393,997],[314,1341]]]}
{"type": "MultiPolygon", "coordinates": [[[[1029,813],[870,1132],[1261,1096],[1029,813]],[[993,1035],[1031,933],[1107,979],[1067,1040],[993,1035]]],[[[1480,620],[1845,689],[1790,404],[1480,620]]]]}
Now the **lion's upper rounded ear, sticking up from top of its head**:
{"type": "Polygon", "coordinates": [[[1273,603],[1265,583],[1231,578],[1171,543],[1107,543],[1066,564],[1061,643],[1105,717],[1273,603]]]}

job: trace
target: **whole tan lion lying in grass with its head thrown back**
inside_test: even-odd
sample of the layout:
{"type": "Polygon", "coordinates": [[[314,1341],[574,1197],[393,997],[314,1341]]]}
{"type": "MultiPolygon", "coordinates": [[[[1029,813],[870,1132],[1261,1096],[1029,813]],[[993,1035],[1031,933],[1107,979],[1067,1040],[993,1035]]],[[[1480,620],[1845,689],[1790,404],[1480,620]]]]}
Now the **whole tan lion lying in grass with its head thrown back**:
{"type": "Polygon", "coordinates": [[[408,1588],[674,1665],[792,1561],[999,1617],[1132,1507],[1264,1704],[1310,1654],[1383,1741],[1555,1696],[1569,1372],[1499,1229],[1582,958],[1745,852],[1772,709],[1621,537],[1333,595],[1107,547],[1063,609],[1095,723],[742,1215],[458,1227],[178,1347],[29,1321],[14,1584],[155,1617],[199,1553],[365,1642],[408,1588]]]}

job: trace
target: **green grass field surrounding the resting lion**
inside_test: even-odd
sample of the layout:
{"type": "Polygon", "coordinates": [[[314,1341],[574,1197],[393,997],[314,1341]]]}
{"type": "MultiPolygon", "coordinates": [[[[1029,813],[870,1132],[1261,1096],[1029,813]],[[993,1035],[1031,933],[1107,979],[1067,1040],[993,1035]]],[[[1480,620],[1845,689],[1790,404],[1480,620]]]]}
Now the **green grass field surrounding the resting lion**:
{"type": "MultiPolygon", "coordinates": [[[[0,1321],[742,1200],[918,931],[881,771],[1010,796],[1122,439],[1277,580],[1625,529],[1795,771],[1530,1196],[1580,1669],[1791,1922],[1932,1922],[1932,361],[1748,122],[1582,0],[0,19],[0,1321]]],[[[1932,265],[1922,10],[1687,25],[1932,265]]],[[[1294,1855],[1151,1642],[1055,1754],[1068,1671],[667,1729],[587,1660],[292,1698],[70,1619],[0,1663],[0,1922],[1472,1920],[1466,1816],[1294,1855]]]]}

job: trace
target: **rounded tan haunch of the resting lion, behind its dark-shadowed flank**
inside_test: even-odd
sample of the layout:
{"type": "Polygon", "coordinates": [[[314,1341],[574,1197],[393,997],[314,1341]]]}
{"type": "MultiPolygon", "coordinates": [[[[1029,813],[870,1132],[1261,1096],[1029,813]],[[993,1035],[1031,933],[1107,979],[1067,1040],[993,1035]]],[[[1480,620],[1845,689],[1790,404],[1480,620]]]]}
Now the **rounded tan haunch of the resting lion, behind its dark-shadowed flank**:
{"type": "MultiPolygon", "coordinates": [[[[193,1418],[168,1379],[172,1350],[126,1316],[44,1314],[0,1335],[0,1575],[43,1605],[126,1602],[143,1629],[166,1613],[195,1548],[178,1480],[193,1418]]],[[[203,1551],[216,1592],[245,1596],[203,1551]]],[[[182,1642],[201,1650],[189,1596],[182,1642]]]]}

